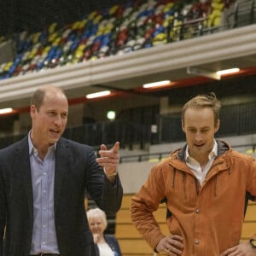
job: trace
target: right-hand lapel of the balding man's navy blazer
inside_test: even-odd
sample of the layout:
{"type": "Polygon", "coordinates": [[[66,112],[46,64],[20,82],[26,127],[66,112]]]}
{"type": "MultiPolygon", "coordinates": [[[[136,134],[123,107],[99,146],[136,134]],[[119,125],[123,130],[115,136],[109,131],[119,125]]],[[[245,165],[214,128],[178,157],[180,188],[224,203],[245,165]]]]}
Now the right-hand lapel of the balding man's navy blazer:
{"type": "Polygon", "coordinates": [[[55,212],[61,196],[63,180],[69,168],[69,149],[67,143],[60,139],[55,149],[55,212]]]}

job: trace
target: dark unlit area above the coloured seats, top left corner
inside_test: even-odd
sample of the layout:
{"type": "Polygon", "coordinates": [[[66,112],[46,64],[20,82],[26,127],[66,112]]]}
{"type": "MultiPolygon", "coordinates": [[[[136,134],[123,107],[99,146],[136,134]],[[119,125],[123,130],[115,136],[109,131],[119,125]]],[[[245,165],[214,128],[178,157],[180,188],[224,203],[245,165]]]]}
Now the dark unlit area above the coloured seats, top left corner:
{"type": "Polygon", "coordinates": [[[0,35],[12,35],[28,29],[38,32],[57,21],[65,25],[96,9],[104,9],[121,0],[1,0],[0,35]]]}

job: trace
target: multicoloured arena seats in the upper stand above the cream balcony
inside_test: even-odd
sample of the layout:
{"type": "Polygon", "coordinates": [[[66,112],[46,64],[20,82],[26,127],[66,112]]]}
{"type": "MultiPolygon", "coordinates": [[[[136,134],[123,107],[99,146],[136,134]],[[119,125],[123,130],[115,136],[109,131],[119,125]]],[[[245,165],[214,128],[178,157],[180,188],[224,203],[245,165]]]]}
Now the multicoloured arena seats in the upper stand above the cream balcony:
{"type": "MultiPolygon", "coordinates": [[[[54,22],[40,32],[23,31],[14,36],[16,56],[0,66],[0,79],[217,32],[234,1],[131,0],[95,10],[73,24],[54,22]]],[[[248,22],[255,21],[254,2],[236,0],[236,26],[244,24],[248,11],[248,22]]]]}

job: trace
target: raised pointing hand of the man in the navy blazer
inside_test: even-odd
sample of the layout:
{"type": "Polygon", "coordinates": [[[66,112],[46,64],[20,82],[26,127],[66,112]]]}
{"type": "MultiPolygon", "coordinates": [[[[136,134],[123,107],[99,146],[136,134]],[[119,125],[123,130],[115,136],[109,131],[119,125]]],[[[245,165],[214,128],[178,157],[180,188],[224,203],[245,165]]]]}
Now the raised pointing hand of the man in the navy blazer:
{"type": "Polygon", "coordinates": [[[102,144],[99,154],[101,157],[96,158],[96,162],[104,167],[107,176],[111,176],[119,165],[119,142],[114,143],[113,148],[109,150],[106,145],[102,144]]]}

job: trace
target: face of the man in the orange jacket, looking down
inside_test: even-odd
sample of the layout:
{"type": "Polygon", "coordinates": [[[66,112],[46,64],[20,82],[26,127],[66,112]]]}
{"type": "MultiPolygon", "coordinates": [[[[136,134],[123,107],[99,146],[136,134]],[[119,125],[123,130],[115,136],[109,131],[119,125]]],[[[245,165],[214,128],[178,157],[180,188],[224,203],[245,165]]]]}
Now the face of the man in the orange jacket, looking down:
{"type": "Polygon", "coordinates": [[[183,131],[189,146],[189,155],[195,160],[208,158],[213,148],[215,132],[218,131],[219,120],[214,125],[211,108],[188,108],[184,113],[183,131]]]}

